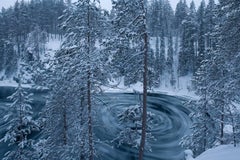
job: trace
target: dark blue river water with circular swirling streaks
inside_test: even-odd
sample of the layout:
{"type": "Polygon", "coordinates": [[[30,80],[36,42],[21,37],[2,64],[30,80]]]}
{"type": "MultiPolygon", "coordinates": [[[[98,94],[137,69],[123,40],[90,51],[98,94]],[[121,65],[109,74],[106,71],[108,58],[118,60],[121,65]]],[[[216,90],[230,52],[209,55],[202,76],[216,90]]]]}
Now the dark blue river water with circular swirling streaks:
{"type": "MultiPolygon", "coordinates": [[[[11,90],[11,89],[10,89],[11,90]]],[[[8,88],[0,88],[0,138],[4,135],[7,124],[2,120],[9,102],[6,96],[8,88]]],[[[36,92],[33,109],[40,112],[44,105],[45,92],[36,92]]],[[[94,134],[97,142],[96,159],[99,160],[135,160],[138,150],[129,146],[119,146],[112,140],[119,134],[121,127],[117,114],[131,105],[139,103],[139,95],[130,93],[105,93],[98,97],[102,102],[95,112],[94,134]]],[[[148,111],[153,113],[151,133],[154,140],[149,141],[152,151],[145,152],[144,160],[184,160],[180,139],[189,132],[189,110],[182,105],[184,100],[164,94],[148,95],[148,111]]],[[[9,148],[0,143],[0,159],[9,148]]]]}

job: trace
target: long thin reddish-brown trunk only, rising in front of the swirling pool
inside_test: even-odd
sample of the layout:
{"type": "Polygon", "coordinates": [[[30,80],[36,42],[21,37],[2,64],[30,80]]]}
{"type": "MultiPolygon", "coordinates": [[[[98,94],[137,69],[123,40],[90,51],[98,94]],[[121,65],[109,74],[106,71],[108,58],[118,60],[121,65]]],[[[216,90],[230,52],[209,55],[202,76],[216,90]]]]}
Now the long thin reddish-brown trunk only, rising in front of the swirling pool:
{"type": "Polygon", "coordinates": [[[144,20],[144,34],[143,34],[143,59],[144,59],[144,67],[143,67],[143,113],[142,113],[142,135],[141,135],[141,142],[140,142],[140,148],[139,148],[139,160],[143,159],[144,154],[144,147],[145,147],[145,141],[146,141],[146,128],[147,128],[147,69],[148,69],[148,33],[147,33],[147,23],[146,23],[146,8],[144,4],[144,0],[141,0],[142,3],[142,10],[143,10],[143,20],[144,20]]]}

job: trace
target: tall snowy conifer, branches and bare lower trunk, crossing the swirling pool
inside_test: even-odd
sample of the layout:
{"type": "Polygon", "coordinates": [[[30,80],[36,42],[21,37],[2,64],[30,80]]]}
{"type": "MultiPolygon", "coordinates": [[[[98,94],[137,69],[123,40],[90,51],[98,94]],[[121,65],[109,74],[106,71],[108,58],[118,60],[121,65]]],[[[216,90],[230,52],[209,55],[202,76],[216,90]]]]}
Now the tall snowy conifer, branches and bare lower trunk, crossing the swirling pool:
{"type": "MultiPolygon", "coordinates": [[[[113,56],[127,55],[121,68],[134,68],[131,72],[131,79],[136,79],[139,75],[143,75],[140,80],[143,82],[143,112],[142,112],[142,132],[141,142],[139,146],[139,159],[143,159],[145,139],[146,139],[146,120],[147,120],[147,75],[148,75],[148,33],[147,33],[147,2],[144,0],[113,0],[113,10],[115,18],[113,25],[117,33],[114,39],[116,46],[113,56]],[[125,45],[127,44],[127,45],[125,45]],[[130,44],[130,45],[128,45],[130,44]],[[122,47],[131,48],[131,52],[124,53],[122,47]],[[132,62],[138,62],[137,66],[133,66],[132,62]]],[[[122,63],[122,62],[121,62],[122,63]]]]}

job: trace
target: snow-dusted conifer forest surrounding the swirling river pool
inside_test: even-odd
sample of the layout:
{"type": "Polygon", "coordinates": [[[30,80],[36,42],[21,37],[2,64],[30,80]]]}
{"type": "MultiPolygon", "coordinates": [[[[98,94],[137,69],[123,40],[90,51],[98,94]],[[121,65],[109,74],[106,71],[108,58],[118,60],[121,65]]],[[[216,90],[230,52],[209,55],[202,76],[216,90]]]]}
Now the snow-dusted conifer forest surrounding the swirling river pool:
{"type": "Polygon", "coordinates": [[[216,145],[236,146],[239,61],[239,0],[202,0],[198,7],[179,0],[176,8],[168,0],[112,0],[110,11],[97,0],[18,0],[0,11],[0,80],[18,84],[0,137],[14,147],[3,159],[97,159],[96,97],[116,81],[142,83],[141,103],[129,109],[140,114],[141,131],[130,142],[118,137],[139,149],[139,160],[151,139],[147,94],[180,90],[183,79],[198,98],[184,101],[192,126],[180,145],[195,156],[216,145]],[[49,55],[53,40],[61,46],[49,55]],[[24,84],[48,90],[37,119],[24,84]],[[32,139],[33,132],[40,138],[32,139]]]}

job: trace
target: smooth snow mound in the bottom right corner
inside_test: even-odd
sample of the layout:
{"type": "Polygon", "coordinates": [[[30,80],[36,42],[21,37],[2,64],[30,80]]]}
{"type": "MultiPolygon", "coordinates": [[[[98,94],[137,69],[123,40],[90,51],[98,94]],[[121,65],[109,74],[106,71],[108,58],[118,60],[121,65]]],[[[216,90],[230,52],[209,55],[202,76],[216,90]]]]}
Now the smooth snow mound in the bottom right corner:
{"type": "MultiPolygon", "coordinates": [[[[222,145],[213,149],[209,149],[202,153],[195,160],[239,160],[240,145],[222,145]]],[[[190,159],[189,159],[190,160],[190,159]]]]}

